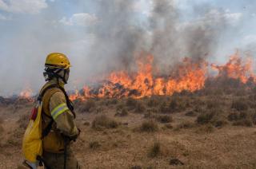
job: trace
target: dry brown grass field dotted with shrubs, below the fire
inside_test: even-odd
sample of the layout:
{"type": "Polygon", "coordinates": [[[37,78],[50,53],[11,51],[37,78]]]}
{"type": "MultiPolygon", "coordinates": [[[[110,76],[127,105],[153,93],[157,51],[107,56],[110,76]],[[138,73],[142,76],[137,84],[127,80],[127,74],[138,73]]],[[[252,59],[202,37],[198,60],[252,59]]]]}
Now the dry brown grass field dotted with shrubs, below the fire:
{"type": "MultiPolygon", "coordinates": [[[[83,168],[256,168],[256,90],[207,88],[134,100],[75,101],[83,168]]],[[[0,103],[0,168],[22,163],[32,103],[0,103]]]]}

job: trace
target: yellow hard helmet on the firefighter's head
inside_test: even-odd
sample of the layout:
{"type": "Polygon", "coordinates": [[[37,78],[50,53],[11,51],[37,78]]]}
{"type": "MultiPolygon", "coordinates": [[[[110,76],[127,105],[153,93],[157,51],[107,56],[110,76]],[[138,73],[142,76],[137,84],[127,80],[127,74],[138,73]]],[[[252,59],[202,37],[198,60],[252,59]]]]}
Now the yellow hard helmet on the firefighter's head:
{"type": "Polygon", "coordinates": [[[46,57],[46,67],[69,69],[71,67],[69,59],[62,53],[50,53],[46,57]]]}

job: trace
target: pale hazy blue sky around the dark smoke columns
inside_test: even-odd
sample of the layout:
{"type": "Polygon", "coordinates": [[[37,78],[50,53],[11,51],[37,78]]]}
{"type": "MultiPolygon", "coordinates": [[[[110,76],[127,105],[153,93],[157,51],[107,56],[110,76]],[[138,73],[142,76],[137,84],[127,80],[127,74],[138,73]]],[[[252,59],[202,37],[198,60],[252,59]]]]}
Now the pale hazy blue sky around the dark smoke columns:
{"type": "MultiPolygon", "coordinates": [[[[0,0],[0,96],[18,93],[26,87],[37,91],[44,82],[46,55],[55,51],[70,57],[73,67],[68,88],[77,83],[79,88],[94,71],[90,64],[94,56],[89,53],[94,44],[94,29],[103,22],[98,16],[102,1],[0,0]]],[[[152,3],[137,0],[130,8],[137,16],[134,25],[144,31],[148,30],[152,3]]],[[[256,54],[256,1],[174,0],[174,4],[179,26],[209,18],[209,22],[211,18],[226,21],[213,60],[226,61],[235,49],[256,54]]]]}

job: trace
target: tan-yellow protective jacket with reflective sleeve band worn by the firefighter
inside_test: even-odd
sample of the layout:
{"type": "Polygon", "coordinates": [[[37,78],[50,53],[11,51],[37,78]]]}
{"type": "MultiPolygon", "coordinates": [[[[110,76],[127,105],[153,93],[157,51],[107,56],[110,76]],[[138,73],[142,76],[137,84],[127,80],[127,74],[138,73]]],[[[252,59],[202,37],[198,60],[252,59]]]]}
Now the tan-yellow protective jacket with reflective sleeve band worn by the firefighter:
{"type": "MultiPolygon", "coordinates": [[[[48,81],[41,89],[58,84],[56,79],[48,81]]],[[[62,85],[62,84],[58,84],[62,85]]],[[[42,140],[43,151],[62,153],[64,151],[65,136],[77,136],[78,128],[74,123],[74,115],[66,104],[65,94],[60,88],[50,88],[42,97],[42,130],[54,120],[51,130],[42,140]]]]}

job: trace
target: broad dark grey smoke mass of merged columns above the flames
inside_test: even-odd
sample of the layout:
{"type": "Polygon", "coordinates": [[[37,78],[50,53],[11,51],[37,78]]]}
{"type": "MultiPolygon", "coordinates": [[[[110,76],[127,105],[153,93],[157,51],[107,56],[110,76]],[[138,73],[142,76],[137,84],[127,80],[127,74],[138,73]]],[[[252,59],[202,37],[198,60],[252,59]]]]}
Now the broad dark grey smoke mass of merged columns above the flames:
{"type": "Polygon", "coordinates": [[[138,24],[135,2],[100,1],[96,14],[99,23],[94,27],[96,41],[89,53],[95,75],[118,69],[134,70],[134,60],[146,54],[153,54],[154,65],[167,73],[166,69],[183,57],[197,61],[212,56],[226,26],[221,12],[202,11],[202,6],[197,6],[195,12],[202,13],[200,18],[182,22],[181,11],[172,0],[150,1],[146,23],[138,24]]]}

